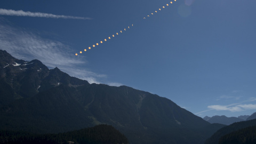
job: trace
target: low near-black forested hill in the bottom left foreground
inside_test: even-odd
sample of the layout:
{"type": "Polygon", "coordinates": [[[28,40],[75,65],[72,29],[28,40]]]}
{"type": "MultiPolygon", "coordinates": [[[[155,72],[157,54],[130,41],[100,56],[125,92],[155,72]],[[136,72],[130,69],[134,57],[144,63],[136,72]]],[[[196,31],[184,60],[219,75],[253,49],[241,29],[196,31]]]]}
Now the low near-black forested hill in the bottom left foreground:
{"type": "Polygon", "coordinates": [[[127,138],[110,125],[97,125],[82,130],[58,134],[0,131],[0,143],[128,143],[127,138]]]}

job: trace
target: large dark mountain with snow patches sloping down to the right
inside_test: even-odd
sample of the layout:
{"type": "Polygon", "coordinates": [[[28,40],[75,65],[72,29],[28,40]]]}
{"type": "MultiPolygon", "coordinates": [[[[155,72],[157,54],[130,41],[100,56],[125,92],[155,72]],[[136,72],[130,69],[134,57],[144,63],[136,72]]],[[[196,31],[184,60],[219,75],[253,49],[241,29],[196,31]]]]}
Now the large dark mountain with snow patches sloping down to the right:
{"type": "Polygon", "coordinates": [[[89,84],[2,50],[0,56],[1,130],[43,134],[108,124],[129,143],[203,143],[223,127],[156,94],[89,84]]]}

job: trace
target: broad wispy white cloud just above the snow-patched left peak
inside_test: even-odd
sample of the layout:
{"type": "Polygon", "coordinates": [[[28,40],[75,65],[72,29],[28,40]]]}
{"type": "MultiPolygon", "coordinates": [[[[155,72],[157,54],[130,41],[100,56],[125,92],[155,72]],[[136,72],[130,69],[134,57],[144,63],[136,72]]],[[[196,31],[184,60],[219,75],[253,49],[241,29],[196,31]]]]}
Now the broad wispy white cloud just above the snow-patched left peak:
{"type": "Polygon", "coordinates": [[[0,49],[6,50],[17,59],[38,59],[49,68],[58,67],[70,76],[85,79],[89,83],[99,84],[99,79],[107,77],[84,68],[87,63],[85,57],[75,57],[75,52],[67,44],[42,38],[39,34],[26,29],[5,25],[1,19],[0,49]]]}

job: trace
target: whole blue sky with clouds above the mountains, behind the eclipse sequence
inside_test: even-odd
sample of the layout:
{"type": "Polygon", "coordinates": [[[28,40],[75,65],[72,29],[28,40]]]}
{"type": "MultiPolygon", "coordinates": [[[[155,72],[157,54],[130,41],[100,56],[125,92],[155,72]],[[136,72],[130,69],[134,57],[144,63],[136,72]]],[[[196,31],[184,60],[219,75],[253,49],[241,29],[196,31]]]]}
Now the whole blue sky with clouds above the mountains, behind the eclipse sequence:
{"type": "Polygon", "coordinates": [[[200,117],[251,115],[255,5],[254,0],[3,0],[0,49],[89,83],[157,94],[200,117]]]}

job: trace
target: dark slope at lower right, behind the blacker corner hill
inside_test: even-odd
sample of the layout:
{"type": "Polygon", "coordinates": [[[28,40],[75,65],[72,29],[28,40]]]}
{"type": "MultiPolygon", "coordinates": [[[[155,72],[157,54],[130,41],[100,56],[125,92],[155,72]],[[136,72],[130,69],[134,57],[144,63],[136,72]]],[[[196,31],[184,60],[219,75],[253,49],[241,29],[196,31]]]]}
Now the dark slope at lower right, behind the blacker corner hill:
{"type": "MultiPolygon", "coordinates": [[[[220,130],[215,132],[209,139],[207,139],[205,141],[205,144],[217,144],[217,143],[219,143],[219,140],[221,137],[223,137],[229,133],[240,131],[241,129],[245,129],[246,127],[249,127],[249,126],[256,126],[256,119],[253,119],[250,121],[244,121],[244,122],[237,122],[237,123],[233,123],[228,126],[222,127],[220,130]]],[[[244,131],[244,130],[241,130],[241,131],[244,131]]],[[[244,131],[244,133],[247,133],[247,132],[244,131]]],[[[233,135],[233,134],[230,134],[230,135],[233,135]]],[[[242,135],[240,135],[240,136],[242,136],[242,135]]]]}

